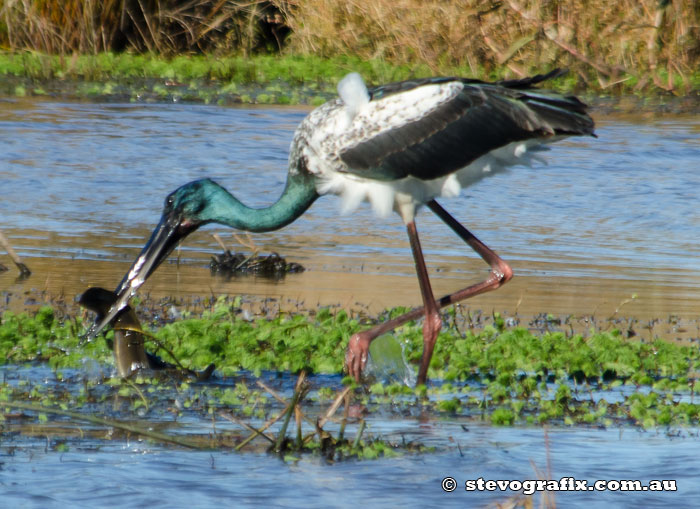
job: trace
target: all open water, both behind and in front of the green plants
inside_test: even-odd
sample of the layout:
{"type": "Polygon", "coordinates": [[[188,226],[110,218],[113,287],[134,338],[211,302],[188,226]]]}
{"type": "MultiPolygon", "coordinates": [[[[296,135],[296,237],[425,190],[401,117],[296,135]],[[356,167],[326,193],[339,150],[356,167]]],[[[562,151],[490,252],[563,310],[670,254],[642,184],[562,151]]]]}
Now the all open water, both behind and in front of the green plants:
{"type": "MultiPolygon", "coordinates": [[[[2,100],[0,228],[34,273],[17,281],[11,267],[0,273],[0,290],[71,298],[88,286],[116,286],[166,194],[189,180],[212,177],[251,205],[272,202],[284,185],[293,129],[306,112],[2,100]]],[[[606,317],[618,310],[641,320],[697,318],[700,120],[640,116],[598,118],[597,124],[598,139],[556,144],[549,165],[496,175],[444,202],[516,271],[511,283],[473,299],[470,308],[521,316],[606,317]]],[[[486,275],[484,264],[436,218],[424,212],[418,221],[436,292],[486,275]]],[[[309,269],[282,282],[212,278],[208,258],[219,251],[213,232],[233,244],[229,230],[197,232],[179,251],[180,264],[165,264],[144,291],[154,297],[241,293],[280,298],[280,307],[340,304],[375,311],[419,302],[400,221],[378,221],[369,207],[343,217],[334,198],[322,198],[284,230],[254,235],[263,251],[309,269]]],[[[4,256],[0,261],[10,265],[4,256]]],[[[700,336],[697,327],[686,332],[700,336]]],[[[678,481],[676,494],[558,493],[556,501],[566,507],[601,501],[610,507],[690,506],[700,497],[700,442],[693,430],[670,438],[663,431],[555,428],[546,446],[536,427],[382,415],[369,423],[379,434],[415,437],[441,452],[331,466],[139,441],[87,440],[60,453],[46,449],[44,440],[5,436],[2,505],[483,506],[513,494],[466,493],[466,479],[535,479],[535,467],[547,468],[548,450],[554,479],[678,481]],[[458,481],[454,493],[440,488],[446,476],[458,481]]]]}

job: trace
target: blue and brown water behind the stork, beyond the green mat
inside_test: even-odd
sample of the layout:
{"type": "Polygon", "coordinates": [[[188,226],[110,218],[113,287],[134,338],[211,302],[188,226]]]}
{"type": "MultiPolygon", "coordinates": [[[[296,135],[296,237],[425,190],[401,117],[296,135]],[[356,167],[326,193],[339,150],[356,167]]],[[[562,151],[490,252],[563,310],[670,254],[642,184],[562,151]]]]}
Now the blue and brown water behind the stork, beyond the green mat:
{"type": "MultiPolygon", "coordinates": [[[[306,110],[201,105],[0,103],[0,225],[34,276],[0,287],[80,293],[114,287],[179,185],[212,177],[243,201],[274,201],[286,178],[292,132],[306,110]]],[[[598,139],[553,146],[549,164],[493,176],[445,207],[512,263],[516,278],[474,308],[608,316],[628,300],[640,318],[696,316],[700,303],[700,121],[602,118],[598,139]]],[[[429,212],[418,217],[436,293],[483,278],[487,268],[429,212]]],[[[144,287],[153,296],[245,293],[306,305],[419,303],[398,217],[369,207],[338,213],[318,200],[287,228],[253,236],[307,272],[280,284],[212,278],[212,226],[190,237],[180,264],[144,287]]],[[[240,246],[234,248],[242,250],[240,246]]]]}

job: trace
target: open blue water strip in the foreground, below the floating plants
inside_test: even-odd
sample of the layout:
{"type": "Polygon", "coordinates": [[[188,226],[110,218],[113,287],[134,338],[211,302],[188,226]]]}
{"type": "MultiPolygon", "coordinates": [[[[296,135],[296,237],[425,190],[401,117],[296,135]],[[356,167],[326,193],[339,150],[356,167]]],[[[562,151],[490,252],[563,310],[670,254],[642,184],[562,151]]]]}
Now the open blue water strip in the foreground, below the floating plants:
{"type": "MultiPolygon", "coordinates": [[[[538,479],[545,471],[541,429],[499,429],[434,423],[434,433],[459,450],[326,465],[285,464],[274,456],[185,452],[142,443],[66,453],[37,447],[0,456],[0,493],[6,507],[484,507],[513,492],[466,492],[467,479],[538,479]],[[532,464],[531,464],[532,462],[532,464]],[[444,477],[458,488],[441,489],[444,477]],[[41,479],[37,483],[36,479],[41,479]]],[[[417,427],[417,426],[415,426],[417,427]]],[[[415,428],[414,427],[414,428],[415,428]]],[[[410,431],[410,430],[409,430],[410,431]]],[[[417,431],[414,429],[414,431],[417,431]]],[[[677,492],[557,492],[559,507],[692,507],[700,499],[697,439],[669,439],[636,431],[549,430],[552,478],[674,479],[677,492]],[[611,450],[614,455],[609,454],[611,450]],[[680,467],[682,465],[682,467],[680,467]]],[[[538,497],[539,498],[539,497],[538,497]]]]}

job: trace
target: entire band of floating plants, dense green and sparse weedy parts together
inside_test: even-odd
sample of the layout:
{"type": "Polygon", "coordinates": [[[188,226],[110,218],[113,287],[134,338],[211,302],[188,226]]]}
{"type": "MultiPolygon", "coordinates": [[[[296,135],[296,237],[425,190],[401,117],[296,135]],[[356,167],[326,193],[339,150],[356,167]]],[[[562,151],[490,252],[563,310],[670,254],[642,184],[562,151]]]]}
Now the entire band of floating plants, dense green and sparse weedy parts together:
{"type": "MultiPolygon", "coordinates": [[[[154,307],[135,305],[137,311],[154,307]]],[[[192,370],[215,363],[206,382],[148,372],[113,377],[105,339],[114,332],[80,343],[92,321],[88,315],[49,306],[32,313],[5,311],[0,441],[47,436],[51,426],[63,434],[73,429],[78,440],[87,421],[104,436],[151,429],[166,436],[143,434],[149,440],[175,436],[205,448],[238,448],[248,440],[240,450],[272,446],[283,455],[312,452],[336,461],[427,450],[391,432],[376,434],[376,419],[383,430],[393,420],[426,416],[466,426],[636,427],[668,434],[699,424],[697,345],[641,340],[627,322],[621,329],[592,327],[582,335],[564,330],[566,320],[548,317],[543,325],[539,317],[526,327],[498,314],[477,319],[453,308],[444,315],[427,386],[406,385],[391,370],[377,369],[415,368],[420,322],[373,344],[374,367],[362,384],[343,377],[349,337],[402,311],[381,317],[330,309],[255,315],[240,298],[219,298],[196,315],[181,309],[171,323],[145,326],[148,337],[157,339],[147,339],[148,349],[165,360],[175,357],[192,370]],[[302,372],[309,376],[299,381],[302,372]]]]}

